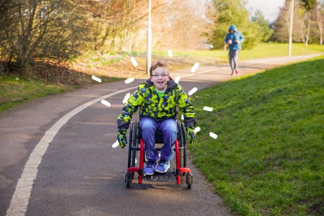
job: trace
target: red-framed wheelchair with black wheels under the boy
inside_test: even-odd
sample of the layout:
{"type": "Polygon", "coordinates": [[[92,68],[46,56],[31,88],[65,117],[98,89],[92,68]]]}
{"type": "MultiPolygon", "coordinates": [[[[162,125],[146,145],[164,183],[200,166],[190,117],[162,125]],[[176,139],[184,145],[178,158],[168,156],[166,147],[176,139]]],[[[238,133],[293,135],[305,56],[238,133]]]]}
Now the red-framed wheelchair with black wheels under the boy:
{"type": "MultiPolygon", "coordinates": [[[[181,182],[181,176],[186,176],[186,184],[190,189],[192,187],[192,174],[190,168],[186,167],[186,130],[185,124],[177,122],[178,134],[174,143],[176,168],[172,172],[175,176],[177,184],[181,182]]],[[[161,131],[155,132],[155,144],[163,144],[163,134],[161,131]]],[[[143,179],[146,178],[143,173],[145,159],[144,140],[141,138],[141,131],[137,121],[131,122],[129,132],[129,146],[128,146],[128,168],[125,176],[126,187],[130,187],[134,179],[135,172],[138,173],[138,184],[142,184],[143,179]],[[139,165],[136,167],[136,154],[139,151],[139,165]]],[[[156,148],[160,151],[160,148],[156,148]]],[[[160,173],[157,173],[161,175],[160,173]]],[[[164,173],[165,174],[165,173],[164,173]]],[[[155,175],[155,174],[154,174],[155,175]]]]}

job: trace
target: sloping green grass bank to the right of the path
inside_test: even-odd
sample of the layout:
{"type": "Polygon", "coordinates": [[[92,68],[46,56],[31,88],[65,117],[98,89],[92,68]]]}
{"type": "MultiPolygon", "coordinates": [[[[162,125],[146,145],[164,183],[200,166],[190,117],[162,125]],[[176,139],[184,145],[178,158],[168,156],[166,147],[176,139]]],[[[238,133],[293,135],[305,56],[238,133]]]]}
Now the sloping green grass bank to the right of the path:
{"type": "Polygon", "coordinates": [[[324,214],[323,68],[320,56],[192,97],[193,163],[237,215],[324,214]]]}

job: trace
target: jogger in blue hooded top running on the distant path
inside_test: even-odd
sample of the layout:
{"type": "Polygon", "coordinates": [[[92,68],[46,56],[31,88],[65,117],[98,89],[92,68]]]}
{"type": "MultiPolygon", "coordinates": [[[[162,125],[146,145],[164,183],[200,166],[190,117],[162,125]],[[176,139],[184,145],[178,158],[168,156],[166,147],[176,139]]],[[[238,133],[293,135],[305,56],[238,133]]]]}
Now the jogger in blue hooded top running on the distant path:
{"type": "Polygon", "coordinates": [[[241,43],[244,41],[244,36],[241,32],[237,31],[235,25],[231,25],[229,33],[225,37],[225,43],[229,45],[229,61],[232,69],[232,74],[238,74],[237,71],[237,60],[238,52],[242,48],[241,43]]]}

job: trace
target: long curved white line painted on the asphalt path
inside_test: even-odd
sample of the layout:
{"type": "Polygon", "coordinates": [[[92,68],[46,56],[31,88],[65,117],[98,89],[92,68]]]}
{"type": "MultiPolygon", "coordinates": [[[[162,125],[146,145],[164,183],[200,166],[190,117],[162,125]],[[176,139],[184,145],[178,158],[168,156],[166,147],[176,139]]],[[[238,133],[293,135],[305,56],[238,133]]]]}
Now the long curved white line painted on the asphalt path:
{"type": "Polygon", "coordinates": [[[50,142],[53,141],[56,133],[63,125],[65,125],[69,121],[69,119],[71,119],[71,117],[84,110],[85,108],[99,102],[103,98],[106,99],[107,97],[136,88],[137,86],[133,86],[127,89],[118,90],[113,93],[100,96],[97,99],[89,101],[81,106],[78,106],[66,115],[64,115],[62,118],[60,118],[50,129],[48,129],[45,132],[42,140],[40,140],[39,143],[35,146],[34,150],[29,156],[28,161],[26,162],[23,173],[18,179],[15,192],[13,193],[10,206],[7,210],[7,215],[25,215],[28,207],[31,189],[33,187],[33,182],[37,175],[38,166],[40,162],[42,162],[42,157],[45,154],[50,142]]]}

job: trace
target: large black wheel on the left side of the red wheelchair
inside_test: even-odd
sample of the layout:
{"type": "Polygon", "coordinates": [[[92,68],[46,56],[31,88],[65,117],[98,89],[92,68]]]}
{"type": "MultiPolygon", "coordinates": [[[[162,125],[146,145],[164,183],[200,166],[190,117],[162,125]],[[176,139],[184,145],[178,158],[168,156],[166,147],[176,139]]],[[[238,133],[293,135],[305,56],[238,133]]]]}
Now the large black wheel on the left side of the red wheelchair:
{"type": "MultiPolygon", "coordinates": [[[[135,166],[137,145],[137,121],[135,121],[131,122],[129,131],[128,168],[135,166]]],[[[131,178],[134,178],[134,174],[130,173],[131,178]]]]}

